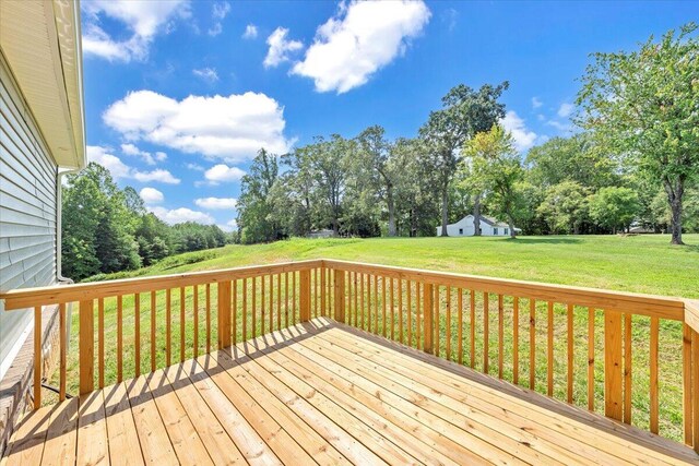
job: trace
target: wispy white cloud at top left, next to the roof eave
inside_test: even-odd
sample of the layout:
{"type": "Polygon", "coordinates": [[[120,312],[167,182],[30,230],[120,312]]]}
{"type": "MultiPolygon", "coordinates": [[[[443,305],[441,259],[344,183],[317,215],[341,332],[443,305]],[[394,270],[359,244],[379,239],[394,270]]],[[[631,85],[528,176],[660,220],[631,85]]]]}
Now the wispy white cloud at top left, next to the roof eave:
{"type": "Polygon", "coordinates": [[[153,38],[167,32],[176,19],[190,15],[189,0],[91,0],[81,2],[81,9],[85,22],[83,51],[125,62],[145,60],[153,38]],[[103,17],[123,23],[131,36],[122,40],[112,38],[99,26],[103,17]]]}

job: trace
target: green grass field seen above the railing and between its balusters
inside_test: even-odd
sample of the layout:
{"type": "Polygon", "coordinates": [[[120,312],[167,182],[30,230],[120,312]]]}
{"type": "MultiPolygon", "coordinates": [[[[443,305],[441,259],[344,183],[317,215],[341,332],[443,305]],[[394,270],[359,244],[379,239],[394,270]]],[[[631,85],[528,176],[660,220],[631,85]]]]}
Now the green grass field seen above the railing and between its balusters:
{"type": "MultiPolygon", "coordinates": [[[[699,235],[687,235],[689,244],[699,244],[699,235]]],[[[683,296],[699,298],[699,246],[671,247],[666,236],[639,237],[521,237],[517,240],[505,238],[396,238],[396,239],[327,239],[305,240],[294,239],[260,246],[228,246],[209,251],[199,251],[167,258],[161,263],[139,271],[103,276],[105,278],[120,278],[147,275],[164,275],[193,271],[227,268],[241,265],[269,264],[305,259],[341,259],[358,262],[369,262],[386,265],[399,265],[434,271],[449,271],[475,275],[486,275],[502,278],[517,278],[534,282],[546,282],[565,285],[577,285],[614,290],[683,296]]],[[[180,298],[175,294],[173,308],[179,309],[180,298]]],[[[446,299],[441,296],[442,306],[446,299]]],[[[187,322],[192,321],[191,289],[186,295],[187,322]]],[[[212,301],[215,302],[214,297],[212,301]]],[[[156,307],[157,322],[164,322],[166,311],[164,299],[158,295],[156,307]]],[[[260,302],[260,301],[258,301],[260,302]]],[[[455,299],[452,301],[455,302],[455,299]]],[[[132,377],[133,361],[133,296],[125,296],[125,378],[132,377]]],[[[528,309],[526,299],[522,300],[521,309],[528,309]]],[[[511,298],[506,298],[505,308],[511,309],[511,298]]],[[[490,358],[497,358],[497,302],[490,301],[490,340],[488,353],[490,358]],[[495,307],[494,307],[495,306],[495,307]],[[495,335],[495,336],[494,336],[495,335]]],[[[141,299],[141,344],[143,348],[150,345],[150,302],[147,296],[141,299]]],[[[178,353],[179,323],[177,312],[174,312],[173,350],[178,353]]],[[[505,365],[503,378],[511,380],[512,374],[512,315],[503,314],[505,321],[505,365]]],[[[546,303],[538,302],[537,315],[546,315],[546,303]]],[[[587,406],[587,310],[577,309],[574,314],[574,403],[587,406]]],[[[483,354],[483,306],[478,298],[476,319],[476,349],[483,354]]],[[[201,318],[200,318],[201,319],[201,318]]],[[[215,323],[215,319],[212,319],[215,323]]],[[[78,320],[73,319],[72,346],[69,355],[69,392],[76,392],[78,382],[78,320]]],[[[105,355],[106,383],[116,380],[116,304],[114,299],[105,301],[105,355]]],[[[633,425],[648,429],[649,425],[649,380],[647,368],[649,365],[649,326],[648,318],[633,319],[633,425]],[[638,375],[637,375],[638,374],[638,375]]],[[[595,314],[595,397],[596,410],[603,408],[603,313],[595,314]]],[[[201,321],[200,321],[201,323],[201,321]]],[[[383,325],[383,323],[380,323],[383,325]]],[[[520,312],[520,328],[529,325],[528,312],[520,312]]],[[[440,332],[446,334],[447,325],[451,325],[451,334],[455,335],[455,323],[447,323],[443,315],[440,319],[440,332]]],[[[564,306],[556,306],[553,322],[555,328],[555,395],[565,399],[565,351],[567,345],[566,310],[564,306]]],[[[238,330],[240,325],[238,325],[238,330]]],[[[381,326],[379,326],[379,330],[381,326]]],[[[536,389],[546,391],[546,330],[545,319],[536,322],[536,389]]],[[[203,328],[200,327],[200,332],[203,328]]],[[[193,325],[186,324],[187,357],[192,357],[193,325]]],[[[215,342],[215,328],[212,336],[215,342]]],[[[469,335],[469,331],[464,331],[469,335]]],[[[162,326],[156,333],[158,348],[156,365],[165,366],[163,355],[165,336],[162,326]]],[[[520,383],[529,380],[528,348],[529,336],[520,339],[521,370],[520,383]]],[[[240,339],[240,336],[238,337],[240,339]]],[[[200,340],[200,347],[203,343],[200,340]]],[[[463,342],[464,348],[470,343],[463,342]]],[[[442,342],[443,345],[443,342],[442,342]]],[[[675,440],[682,435],[682,327],[676,322],[662,322],[660,335],[660,417],[661,434],[675,440]]],[[[442,347],[442,351],[443,351],[442,347]]],[[[150,368],[150,355],[142,350],[141,365],[144,371],[150,368]]],[[[202,353],[202,350],[200,350],[202,353]]],[[[443,355],[443,353],[442,353],[443,355]]],[[[178,358],[176,357],[175,360],[178,358]]],[[[455,356],[452,358],[455,359],[455,356]]],[[[490,374],[497,375],[497,365],[491,363],[490,374]]],[[[477,361],[476,369],[482,370],[482,361],[477,361]]]]}

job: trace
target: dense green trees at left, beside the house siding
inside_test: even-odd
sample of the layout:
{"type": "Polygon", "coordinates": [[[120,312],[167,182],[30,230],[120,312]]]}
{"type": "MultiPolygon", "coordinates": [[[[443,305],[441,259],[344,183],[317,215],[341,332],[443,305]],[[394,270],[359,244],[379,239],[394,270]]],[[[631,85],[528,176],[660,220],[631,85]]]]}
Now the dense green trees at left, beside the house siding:
{"type": "Polygon", "coordinates": [[[146,211],[133,188],[119,189],[95,163],[69,175],[62,189],[62,272],[75,280],[230,242],[215,225],[167,225],[146,211]]]}

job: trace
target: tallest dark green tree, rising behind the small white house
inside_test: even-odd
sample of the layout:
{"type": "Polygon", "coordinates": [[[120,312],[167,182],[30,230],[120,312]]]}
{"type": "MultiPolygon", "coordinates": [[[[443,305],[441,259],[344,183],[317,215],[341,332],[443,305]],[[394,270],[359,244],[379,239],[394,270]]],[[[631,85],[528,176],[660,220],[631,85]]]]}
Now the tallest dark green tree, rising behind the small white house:
{"type": "Polygon", "coordinates": [[[458,168],[459,153],[474,134],[488,131],[505,117],[505,105],[498,103],[509,87],[506,81],[497,86],[483,85],[477,92],[460,84],[442,97],[441,110],[431,111],[419,134],[428,148],[431,176],[441,198],[441,234],[447,236],[449,223],[449,184],[458,168]]]}

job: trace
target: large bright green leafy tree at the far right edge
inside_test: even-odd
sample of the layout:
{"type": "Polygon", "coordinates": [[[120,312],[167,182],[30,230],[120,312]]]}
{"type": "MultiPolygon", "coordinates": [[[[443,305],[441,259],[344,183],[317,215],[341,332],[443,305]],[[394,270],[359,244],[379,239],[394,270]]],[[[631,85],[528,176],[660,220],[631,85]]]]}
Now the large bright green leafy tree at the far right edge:
{"type": "Polygon", "coordinates": [[[671,208],[672,244],[683,244],[683,198],[699,176],[699,38],[688,23],[638,51],[595,53],[582,77],[580,126],[660,180],[671,208]]]}

